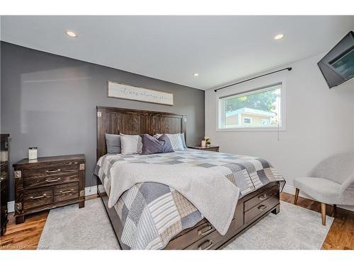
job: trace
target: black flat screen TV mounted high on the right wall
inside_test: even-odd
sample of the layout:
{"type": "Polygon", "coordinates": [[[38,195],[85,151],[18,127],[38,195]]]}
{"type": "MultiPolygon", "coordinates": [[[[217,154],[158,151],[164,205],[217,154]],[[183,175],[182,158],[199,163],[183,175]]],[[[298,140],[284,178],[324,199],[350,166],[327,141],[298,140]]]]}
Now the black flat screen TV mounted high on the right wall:
{"type": "Polygon", "coordinates": [[[350,31],[318,63],[329,88],[354,76],[354,33],[350,31]]]}

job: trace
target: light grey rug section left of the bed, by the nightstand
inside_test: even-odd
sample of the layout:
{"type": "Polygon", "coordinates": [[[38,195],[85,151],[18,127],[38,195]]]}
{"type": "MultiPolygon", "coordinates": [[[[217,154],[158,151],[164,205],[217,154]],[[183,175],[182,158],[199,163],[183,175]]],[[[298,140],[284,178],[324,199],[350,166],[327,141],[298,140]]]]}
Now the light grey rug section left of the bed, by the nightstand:
{"type": "Polygon", "coordinates": [[[37,249],[120,249],[100,198],[50,210],[37,249]]]}

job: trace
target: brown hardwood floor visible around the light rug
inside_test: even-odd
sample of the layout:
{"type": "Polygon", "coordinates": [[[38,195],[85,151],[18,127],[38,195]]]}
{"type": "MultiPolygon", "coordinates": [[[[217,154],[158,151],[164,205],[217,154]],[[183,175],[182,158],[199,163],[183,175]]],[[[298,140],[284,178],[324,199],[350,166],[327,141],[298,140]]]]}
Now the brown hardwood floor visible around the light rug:
{"type": "MultiPolygon", "coordinates": [[[[94,198],[97,196],[86,196],[86,200],[94,198]]],[[[294,195],[282,192],[280,199],[293,204],[294,195]]],[[[316,201],[299,197],[297,205],[320,212],[321,204],[316,201]]],[[[336,213],[333,213],[332,206],[327,206],[326,211],[334,217],[334,220],[321,249],[354,249],[354,213],[341,208],[337,208],[336,213]]],[[[36,249],[48,213],[49,211],[43,211],[28,216],[25,223],[19,225],[15,224],[15,218],[11,213],[6,234],[0,238],[0,249],[36,249]]]]}

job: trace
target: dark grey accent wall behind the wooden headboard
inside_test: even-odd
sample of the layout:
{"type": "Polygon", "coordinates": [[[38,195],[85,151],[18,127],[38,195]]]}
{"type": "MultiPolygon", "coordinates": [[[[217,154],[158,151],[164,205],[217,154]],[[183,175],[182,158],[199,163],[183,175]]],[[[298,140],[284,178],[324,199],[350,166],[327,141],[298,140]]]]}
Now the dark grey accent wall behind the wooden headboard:
{"type": "Polygon", "coordinates": [[[186,114],[187,144],[194,145],[204,137],[204,94],[203,90],[1,42],[1,133],[11,135],[9,200],[14,199],[12,164],[27,158],[32,146],[38,147],[39,156],[84,153],[86,187],[96,184],[90,179],[96,164],[96,106],[186,114]],[[173,93],[174,105],[107,98],[108,80],[173,93]]]}

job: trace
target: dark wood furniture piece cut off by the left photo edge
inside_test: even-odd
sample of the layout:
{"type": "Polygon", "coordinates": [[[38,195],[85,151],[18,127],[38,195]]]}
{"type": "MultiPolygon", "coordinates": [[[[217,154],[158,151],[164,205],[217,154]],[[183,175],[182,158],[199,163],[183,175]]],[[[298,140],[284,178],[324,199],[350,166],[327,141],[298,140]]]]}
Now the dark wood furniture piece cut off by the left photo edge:
{"type": "Polygon", "coordinates": [[[1,233],[6,232],[7,224],[7,203],[8,203],[8,137],[9,134],[1,134],[1,158],[0,158],[0,219],[1,219],[1,233]]]}

